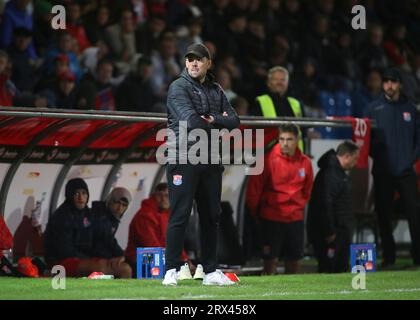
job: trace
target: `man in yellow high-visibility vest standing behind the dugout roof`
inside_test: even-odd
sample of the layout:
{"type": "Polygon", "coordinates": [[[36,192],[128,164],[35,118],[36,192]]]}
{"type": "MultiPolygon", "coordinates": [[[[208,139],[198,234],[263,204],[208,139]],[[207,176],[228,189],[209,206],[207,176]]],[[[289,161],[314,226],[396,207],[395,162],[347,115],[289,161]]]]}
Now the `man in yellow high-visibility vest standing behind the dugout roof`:
{"type": "MultiPolygon", "coordinates": [[[[256,98],[251,114],[265,118],[275,117],[303,117],[301,103],[287,95],[289,88],[289,71],[276,66],[267,74],[268,93],[256,98]]],[[[299,149],[303,151],[303,140],[299,138],[299,149]]]]}

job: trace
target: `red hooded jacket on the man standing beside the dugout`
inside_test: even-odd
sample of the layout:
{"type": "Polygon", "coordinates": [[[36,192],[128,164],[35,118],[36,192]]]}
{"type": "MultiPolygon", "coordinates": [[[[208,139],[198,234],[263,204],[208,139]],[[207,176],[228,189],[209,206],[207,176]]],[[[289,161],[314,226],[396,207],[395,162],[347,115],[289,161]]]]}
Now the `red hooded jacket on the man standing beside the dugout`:
{"type": "Polygon", "coordinates": [[[299,149],[293,157],[276,144],[265,156],[264,171],[248,181],[246,202],[251,215],[278,222],[302,221],[312,188],[311,160],[299,149]]]}

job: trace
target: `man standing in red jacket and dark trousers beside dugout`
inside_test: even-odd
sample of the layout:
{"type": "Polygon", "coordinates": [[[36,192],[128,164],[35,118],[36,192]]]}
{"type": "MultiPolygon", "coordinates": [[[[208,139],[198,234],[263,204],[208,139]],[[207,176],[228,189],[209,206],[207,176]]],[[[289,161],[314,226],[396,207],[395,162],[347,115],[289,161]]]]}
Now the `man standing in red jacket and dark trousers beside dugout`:
{"type": "Polygon", "coordinates": [[[285,258],[285,273],[297,273],[303,255],[304,209],[313,171],[298,141],[299,128],[282,125],[279,143],[265,156],[263,173],[248,182],[247,206],[262,234],[263,274],[275,273],[279,257],[285,258]]]}

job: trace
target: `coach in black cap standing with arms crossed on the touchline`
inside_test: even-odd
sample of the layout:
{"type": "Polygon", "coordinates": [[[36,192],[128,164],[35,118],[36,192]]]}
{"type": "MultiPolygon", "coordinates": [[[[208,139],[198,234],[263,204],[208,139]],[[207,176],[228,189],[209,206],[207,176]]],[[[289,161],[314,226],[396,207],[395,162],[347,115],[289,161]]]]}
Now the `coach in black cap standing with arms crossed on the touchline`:
{"type": "MultiPolygon", "coordinates": [[[[177,284],[177,272],[183,264],[181,253],[185,232],[191,215],[193,201],[196,201],[200,219],[201,262],[204,268],[204,285],[234,284],[217,266],[217,226],[220,217],[223,166],[218,154],[211,156],[208,150],[200,150],[197,163],[190,159],[190,150],[196,141],[180,137],[182,129],[190,132],[202,129],[211,146],[211,129],[234,129],[239,118],[228,102],[222,88],[207,73],[211,68],[211,56],[203,44],[193,44],[185,53],[185,69],[181,76],[171,83],[168,91],[168,129],[176,137],[168,136],[166,175],[169,189],[171,216],[166,233],[166,274],[164,285],[177,284]],[[181,128],[183,125],[186,128],[181,128]],[[178,141],[186,141],[187,148],[178,148],[178,141]],[[187,149],[187,150],[184,150],[187,149]],[[205,155],[202,153],[206,152],[205,155]],[[203,157],[202,157],[203,156],[203,157]],[[205,158],[205,161],[202,161],[205,158]],[[216,163],[212,163],[216,160],[216,163]]],[[[218,139],[218,138],[217,138],[218,139]]],[[[218,143],[216,143],[218,144],[218,143]]]]}

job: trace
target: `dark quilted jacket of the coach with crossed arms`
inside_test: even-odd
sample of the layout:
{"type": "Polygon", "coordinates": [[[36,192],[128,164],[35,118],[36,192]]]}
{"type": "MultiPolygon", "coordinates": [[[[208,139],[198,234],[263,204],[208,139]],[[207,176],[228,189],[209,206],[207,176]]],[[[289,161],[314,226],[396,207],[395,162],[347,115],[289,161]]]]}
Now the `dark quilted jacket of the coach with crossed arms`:
{"type": "MultiPolygon", "coordinates": [[[[187,70],[184,69],[181,76],[169,86],[167,107],[168,129],[175,133],[176,140],[180,134],[180,121],[186,122],[187,132],[193,129],[204,129],[209,134],[211,129],[232,130],[239,127],[236,111],[228,102],[223,89],[213,81],[213,77],[209,74],[207,74],[205,82],[201,84],[191,78],[187,70]],[[228,116],[222,116],[223,112],[226,112],[228,116]],[[214,123],[207,123],[201,118],[202,115],[212,115],[215,119],[214,123]]],[[[186,137],[181,136],[180,140],[184,139],[186,137]]],[[[175,143],[176,141],[168,138],[168,148],[175,147],[175,143]]],[[[187,150],[195,143],[196,141],[188,141],[187,150]]],[[[211,139],[209,138],[210,145],[211,139]]],[[[177,159],[186,159],[187,152],[180,152],[179,149],[176,150],[177,159]]],[[[171,153],[169,153],[168,161],[171,160],[171,153]]]]}

